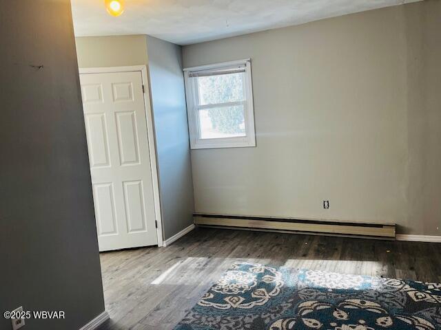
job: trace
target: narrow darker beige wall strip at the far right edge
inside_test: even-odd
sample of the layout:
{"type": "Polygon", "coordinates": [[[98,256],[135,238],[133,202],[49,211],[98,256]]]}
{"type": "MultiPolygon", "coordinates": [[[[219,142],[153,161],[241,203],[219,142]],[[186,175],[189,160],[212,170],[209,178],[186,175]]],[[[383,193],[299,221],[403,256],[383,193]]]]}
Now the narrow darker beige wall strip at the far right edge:
{"type": "Polygon", "coordinates": [[[441,1],[425,0],[404,8],[409,159],[406,230],[440,235],[441,1]]]}

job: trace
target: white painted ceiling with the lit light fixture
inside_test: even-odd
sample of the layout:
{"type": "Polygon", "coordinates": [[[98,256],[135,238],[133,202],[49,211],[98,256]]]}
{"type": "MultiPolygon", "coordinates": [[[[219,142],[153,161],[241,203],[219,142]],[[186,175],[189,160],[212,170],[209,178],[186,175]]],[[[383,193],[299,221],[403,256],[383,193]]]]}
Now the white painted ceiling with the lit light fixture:
{"type": "Polygon", "coordinates": [[[76,36],[150,34],[188,45],[418,0],[125,0],[120,17],[103,0],[72,0],[76,36]]]}

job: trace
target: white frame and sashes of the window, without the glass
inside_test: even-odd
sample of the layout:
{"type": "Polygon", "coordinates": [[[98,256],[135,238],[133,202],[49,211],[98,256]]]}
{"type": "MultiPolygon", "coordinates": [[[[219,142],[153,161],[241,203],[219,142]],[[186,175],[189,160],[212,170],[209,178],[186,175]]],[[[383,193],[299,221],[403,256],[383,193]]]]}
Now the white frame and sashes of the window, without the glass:
{"type": "MultiPolygon", "coordinates": [[[[190,135],[190,147],[192,149],[207,149],[207,148],[242,148],[247,146],[256,146],[256,132],[254,129],[254,104],[253,104],[253,87],[252,87],[252,73],[251,60],[245,60],[217,63],[213,65],[202,65],[199,67],[187,67],[184,69],[185,77],[185,95],[187,97],[187,117],[188,129],[190,135]],[[234,106],[237,104],[244,105],[245,118],[245,136],[238,137],[221,137],[214,139],[201,139],[199,132],[199,111],[204,106],[198,106],[197,93],[198,87],[196,79],[190,79],[189,74],[192,72],[215,71],[218,69],[234,69],[235,66],[245,65],[245,95],[246,100],[240,102],[222,103],[224,107],[234,106]]],[[[210,104],[209,107],[212,107],[210,104]]]]}

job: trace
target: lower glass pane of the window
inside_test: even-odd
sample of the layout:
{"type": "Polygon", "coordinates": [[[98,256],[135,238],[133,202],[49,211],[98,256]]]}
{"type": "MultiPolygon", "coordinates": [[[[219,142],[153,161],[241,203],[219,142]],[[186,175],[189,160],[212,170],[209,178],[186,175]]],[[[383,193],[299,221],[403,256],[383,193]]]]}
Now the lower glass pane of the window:
{"type": "Polygon", "coordinates": [[[243,105],[199,110],[201,139],[245,136],[243,105]]]}

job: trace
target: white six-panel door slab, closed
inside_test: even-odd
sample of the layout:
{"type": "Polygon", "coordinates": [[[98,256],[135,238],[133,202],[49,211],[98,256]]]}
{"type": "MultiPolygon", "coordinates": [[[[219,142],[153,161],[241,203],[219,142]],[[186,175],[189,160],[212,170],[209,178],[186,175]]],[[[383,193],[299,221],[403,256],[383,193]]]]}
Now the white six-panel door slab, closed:
{"type": "Polygon", "coordinates": [[[81,74],[99,250],[156,245],[141,72],[81,74]]]}

